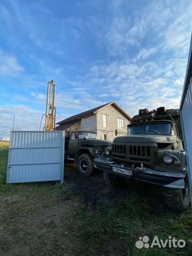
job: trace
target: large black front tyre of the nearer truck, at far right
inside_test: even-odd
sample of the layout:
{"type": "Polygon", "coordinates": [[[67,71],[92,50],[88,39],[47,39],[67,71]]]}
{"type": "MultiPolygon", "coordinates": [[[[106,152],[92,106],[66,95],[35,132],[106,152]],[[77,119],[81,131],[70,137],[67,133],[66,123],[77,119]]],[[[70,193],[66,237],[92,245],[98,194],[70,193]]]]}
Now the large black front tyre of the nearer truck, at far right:
{"type": "Polygon", "coordinates": [[[163,194],[166,205],[172,210],[183,212],[190,203],[189,181],[186,179],[185,189],[164,188],[163,194]]]}

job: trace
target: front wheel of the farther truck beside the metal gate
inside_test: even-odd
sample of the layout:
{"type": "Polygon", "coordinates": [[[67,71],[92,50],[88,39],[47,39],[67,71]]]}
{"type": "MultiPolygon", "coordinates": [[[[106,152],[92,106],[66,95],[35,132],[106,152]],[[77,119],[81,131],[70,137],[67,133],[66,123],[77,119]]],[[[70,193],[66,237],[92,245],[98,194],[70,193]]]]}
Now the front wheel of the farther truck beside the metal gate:
{"type": "Polygon", "coordinates": [[[84,176],[90,176],[94,172],[93,158],[89,154],[82,154],[77,161],[78,172],[84,176]]]}

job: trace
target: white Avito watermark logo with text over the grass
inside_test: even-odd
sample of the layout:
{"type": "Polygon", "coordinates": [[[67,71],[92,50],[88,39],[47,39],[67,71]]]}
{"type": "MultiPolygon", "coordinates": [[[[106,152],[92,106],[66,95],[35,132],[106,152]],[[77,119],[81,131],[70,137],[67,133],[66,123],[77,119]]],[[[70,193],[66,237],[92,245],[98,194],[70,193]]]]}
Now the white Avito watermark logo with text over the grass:
{"type": "Polygon", "coordinates": [[[165,248],[165,247],[174,247],[174,248],[183,248],[186,246],[186,242],[183,239],[176,239],[175,237],[169,236],[168,239],[158,239],[157,236],[154,236],[153,241],[151,244],[149,243],[149,237],[148,236],[143,236],[139,237],[139,240],[135,243],[135,246],[138,249],[142,248],[153,248],[154,246],[158,246],[159,248],[165,248]]]}

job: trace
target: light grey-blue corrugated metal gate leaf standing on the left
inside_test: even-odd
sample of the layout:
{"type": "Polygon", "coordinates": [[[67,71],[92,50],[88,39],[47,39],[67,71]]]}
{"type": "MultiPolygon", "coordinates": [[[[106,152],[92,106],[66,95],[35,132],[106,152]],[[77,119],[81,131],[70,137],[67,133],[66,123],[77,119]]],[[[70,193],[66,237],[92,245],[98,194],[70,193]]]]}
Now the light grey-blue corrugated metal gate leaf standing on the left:
{"type": "Polygon", "coordinates": [[[6,182],[63,182],[64,146],[62,131],[12,131],[6,182]]]}

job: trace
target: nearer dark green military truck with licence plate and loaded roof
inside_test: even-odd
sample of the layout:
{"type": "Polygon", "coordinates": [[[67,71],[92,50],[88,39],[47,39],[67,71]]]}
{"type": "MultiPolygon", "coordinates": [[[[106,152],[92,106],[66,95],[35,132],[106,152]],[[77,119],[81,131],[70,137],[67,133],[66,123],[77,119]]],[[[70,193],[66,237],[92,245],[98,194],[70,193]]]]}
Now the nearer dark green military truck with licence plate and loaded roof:
{"type": "Polygon", "coordinates": [[[140,109],[127,127],[127,135],[116,137],[94,159],[106,183],[119,187],[133,179],[159,185],[171,209],[187,209],[190,195],[179,110],[140,109]]]}

